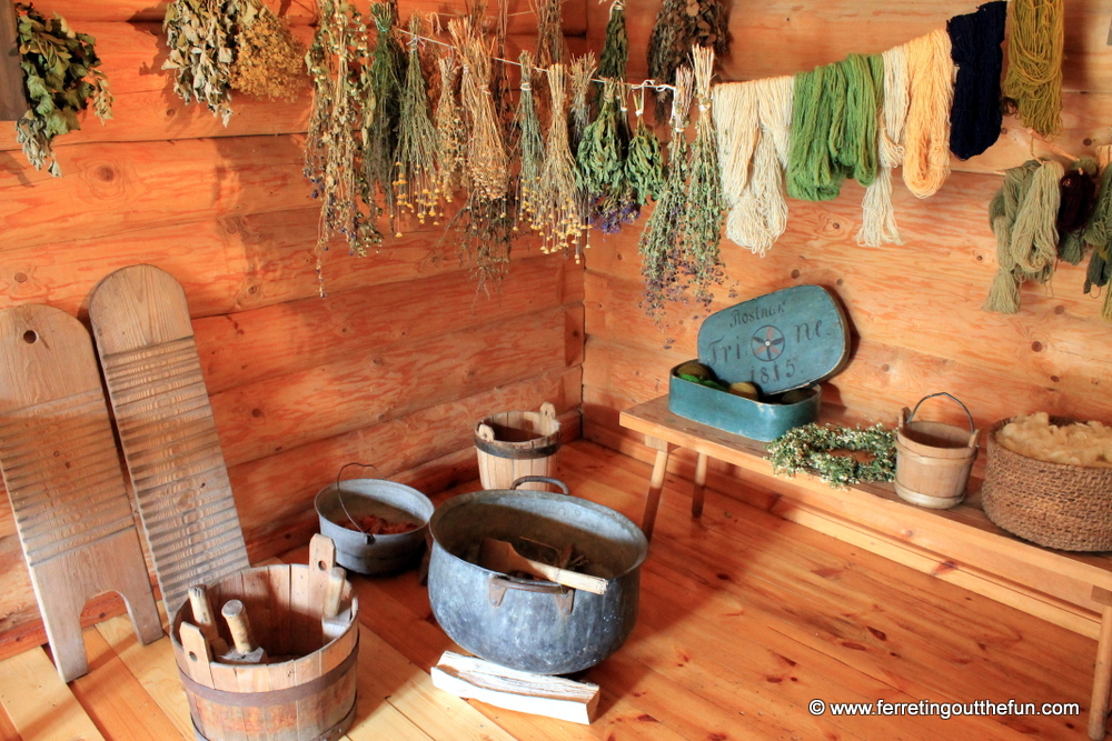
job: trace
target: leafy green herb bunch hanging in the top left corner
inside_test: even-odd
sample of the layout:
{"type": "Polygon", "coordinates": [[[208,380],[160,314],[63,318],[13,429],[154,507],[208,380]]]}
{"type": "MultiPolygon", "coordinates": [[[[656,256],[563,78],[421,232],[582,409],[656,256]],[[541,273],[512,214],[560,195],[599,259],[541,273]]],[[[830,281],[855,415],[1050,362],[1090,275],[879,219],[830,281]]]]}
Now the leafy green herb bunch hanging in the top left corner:
{"type": "Polygon", "coordinates": [[[43,18],[30,4],[16,4],[19,17],[20,67],[31,108],[16,121],[16,140],[38,170],[51,160],[49,172],[60,178],[51,142],[81,128],[77,114],[89,107],[103,123],[112,118],[112,96],[101,72],[96,39],[77,33],[54,13],[43,18]]]}

